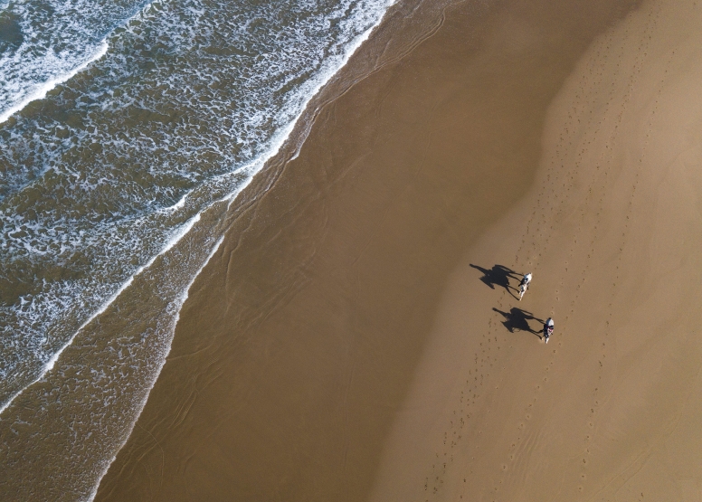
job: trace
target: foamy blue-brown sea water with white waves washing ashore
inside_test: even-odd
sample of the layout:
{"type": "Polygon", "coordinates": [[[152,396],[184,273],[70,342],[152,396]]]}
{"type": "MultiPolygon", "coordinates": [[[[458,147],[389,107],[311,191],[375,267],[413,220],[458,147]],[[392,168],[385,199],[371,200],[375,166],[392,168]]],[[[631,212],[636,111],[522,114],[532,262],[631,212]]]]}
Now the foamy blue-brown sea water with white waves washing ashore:
{"type": "Polygon", "coordinates": [[[94,496],[227,204],[393,3],[0,0],[0,499],[94,496]]]}

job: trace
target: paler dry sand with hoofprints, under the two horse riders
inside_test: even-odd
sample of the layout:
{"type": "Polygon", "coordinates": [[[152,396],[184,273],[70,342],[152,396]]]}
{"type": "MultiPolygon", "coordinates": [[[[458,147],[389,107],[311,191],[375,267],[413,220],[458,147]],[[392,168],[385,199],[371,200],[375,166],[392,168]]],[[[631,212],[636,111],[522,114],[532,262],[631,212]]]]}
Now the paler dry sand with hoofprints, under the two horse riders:
{"type": "Polygon", "coordinates": [[[451,274],[373,500],[702,499],[700,6],[649,2],[593,43],[543,146],[451,274]],[[547,346],[506,331],[513,308],[555,318],[547,346]]]}

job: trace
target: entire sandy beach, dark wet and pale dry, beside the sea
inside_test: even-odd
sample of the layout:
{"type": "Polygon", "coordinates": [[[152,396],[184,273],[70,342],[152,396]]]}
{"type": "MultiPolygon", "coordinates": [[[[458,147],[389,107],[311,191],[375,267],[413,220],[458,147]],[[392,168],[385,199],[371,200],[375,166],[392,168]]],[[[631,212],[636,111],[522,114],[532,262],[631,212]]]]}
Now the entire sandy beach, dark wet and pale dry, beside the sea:
{"type": "Polygon", "coordinates": [[[320,110],[96,500],[702,497],[702,6],[566,4],[451,5],[320,110]]]}

